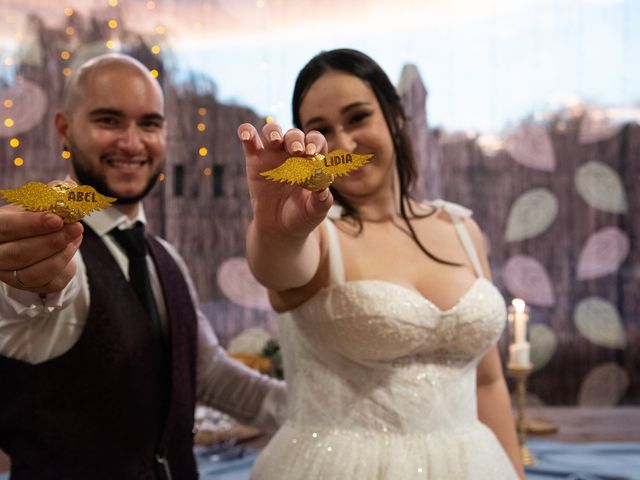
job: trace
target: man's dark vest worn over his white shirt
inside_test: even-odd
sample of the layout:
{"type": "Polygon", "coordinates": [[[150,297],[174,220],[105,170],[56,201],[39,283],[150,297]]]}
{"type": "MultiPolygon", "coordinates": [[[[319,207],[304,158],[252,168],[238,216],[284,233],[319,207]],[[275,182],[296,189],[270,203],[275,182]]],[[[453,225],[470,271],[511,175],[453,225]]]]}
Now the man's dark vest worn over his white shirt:
{"type": "Polygon", "coordinates": [[[164,349],[115,259],[85,225],[91,305],[80,338],[37,365],[0,356],[0,448],[11,457],[12,480],[156,480],[167,477],[167,464],[174,480],[197,478],[197,316],[176,262],[157,240],[148,244],[167,305],[164,349]]]}

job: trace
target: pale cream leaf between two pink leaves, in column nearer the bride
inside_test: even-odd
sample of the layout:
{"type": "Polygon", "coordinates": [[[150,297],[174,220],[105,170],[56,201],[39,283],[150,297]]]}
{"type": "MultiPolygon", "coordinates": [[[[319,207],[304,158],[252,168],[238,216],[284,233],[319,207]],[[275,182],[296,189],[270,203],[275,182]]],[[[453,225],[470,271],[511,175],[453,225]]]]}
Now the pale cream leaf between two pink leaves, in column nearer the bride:
{"type": "Polygon", "coordinates": [[[547,230],[558,216],[558,200],[546,188],[534,188],[511,205],[505,239],[516,242],[533,238],[547,230]]]}

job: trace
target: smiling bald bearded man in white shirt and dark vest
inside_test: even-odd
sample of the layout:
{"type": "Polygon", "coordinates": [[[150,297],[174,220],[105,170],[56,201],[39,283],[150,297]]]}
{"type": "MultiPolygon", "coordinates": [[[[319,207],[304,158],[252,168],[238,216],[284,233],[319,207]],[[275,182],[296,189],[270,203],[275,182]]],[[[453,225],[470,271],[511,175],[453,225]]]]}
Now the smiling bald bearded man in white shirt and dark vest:
{"type": "Polygon", "coordinates": [[[196,399],[273,430],[284,386],[220,348],[167,242],[142,237],[153,300],[129,281],[138,274],[121,233],[143,230],[140,202],[166,150],[163,94],[147,68],[124,55],[89,61],[55,126],[72,178],[118,200],[66,225],[0,208],[0,448],[11,478],[195,479],[196,399]]]}

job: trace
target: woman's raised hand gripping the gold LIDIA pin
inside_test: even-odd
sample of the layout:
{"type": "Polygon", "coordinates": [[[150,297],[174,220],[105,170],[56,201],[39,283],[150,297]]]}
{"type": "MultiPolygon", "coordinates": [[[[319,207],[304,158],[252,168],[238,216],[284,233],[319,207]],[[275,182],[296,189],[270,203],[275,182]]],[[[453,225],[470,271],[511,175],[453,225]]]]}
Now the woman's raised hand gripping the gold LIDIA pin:
{"type": "Polygon", "coordinates": [[[247,181],[254,212],[254,228],[277,238],[306,238],[327,215],[333,202],[328,189],[318,192],[267,180],[260,173],[281,165],[289,157],[327,153],[325,138],[316,131],[305,135],[298,129],[285,134],[276,123],[262,129],[238,127],[244,149],[247,181]]]}

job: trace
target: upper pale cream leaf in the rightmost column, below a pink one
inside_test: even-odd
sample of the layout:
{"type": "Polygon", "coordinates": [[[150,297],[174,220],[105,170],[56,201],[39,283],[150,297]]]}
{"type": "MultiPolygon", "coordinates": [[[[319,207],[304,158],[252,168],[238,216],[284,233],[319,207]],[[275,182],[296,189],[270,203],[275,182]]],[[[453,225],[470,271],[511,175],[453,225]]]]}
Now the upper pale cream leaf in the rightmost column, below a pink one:
{"type": "Polygon", "coordinates": [[[576,190],[587,204],[611,213],[626,213],[627,196],[618,172],[602,162],[587,162],[576,171],[576,190]]]}

